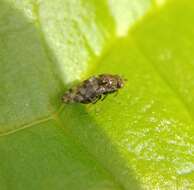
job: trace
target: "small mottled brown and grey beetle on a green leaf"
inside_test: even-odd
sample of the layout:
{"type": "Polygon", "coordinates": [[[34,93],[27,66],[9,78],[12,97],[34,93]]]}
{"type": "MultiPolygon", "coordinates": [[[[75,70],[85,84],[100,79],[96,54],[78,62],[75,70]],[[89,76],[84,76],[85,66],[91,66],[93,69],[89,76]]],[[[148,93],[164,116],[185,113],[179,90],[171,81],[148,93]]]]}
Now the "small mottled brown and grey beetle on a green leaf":
{"type": "Polygon", "coordinates": [[[62,97],[65,103],[96,103],[107,94],[117,92],[124,85],[119,75],[100,74],[92,76],[77,86],[70,88],[62,97]]]}

